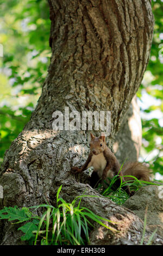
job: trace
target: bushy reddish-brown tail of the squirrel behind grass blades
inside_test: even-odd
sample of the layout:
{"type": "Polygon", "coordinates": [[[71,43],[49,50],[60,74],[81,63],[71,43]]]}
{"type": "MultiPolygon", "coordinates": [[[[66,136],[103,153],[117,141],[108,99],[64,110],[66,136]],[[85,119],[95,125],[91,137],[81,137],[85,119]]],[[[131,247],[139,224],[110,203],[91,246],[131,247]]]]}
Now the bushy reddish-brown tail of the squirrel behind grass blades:
{"type": "MultiPolygon", "coordinates": [[[[125,163],[122,167],[123,175],[132,175],[135,176],[138,180],[149,181],[151,175],[151,170],[143,163],[139,162],[128,162],[125,163]]],[[[131,177],[124,177],[125,180],[134,180],[131,177]]]]}

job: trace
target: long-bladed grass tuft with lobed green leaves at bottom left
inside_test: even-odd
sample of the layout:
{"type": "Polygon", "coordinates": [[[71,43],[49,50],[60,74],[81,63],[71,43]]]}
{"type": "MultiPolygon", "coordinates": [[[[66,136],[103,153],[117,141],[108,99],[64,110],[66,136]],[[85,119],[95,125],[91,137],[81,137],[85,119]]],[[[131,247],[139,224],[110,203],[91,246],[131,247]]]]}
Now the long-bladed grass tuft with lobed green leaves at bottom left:
{"type": "Polygon", "coordinates": [[[31,245],[84,245],[89,244],[89,230],[93,227],[92,222],[111,229],[102,221],[111,222],[103,217],[97,216],[91,210],[80,206],[83,197],[80,196],[72,203],[66,203],[59,198],[61,186],[57,192],[57,207],[42,204],[30,208],[18,209],[17,206],[4,207],[0,211],[0,220],[16,221],[23,223],[18,230],[24,235],[21,240],[28,241],[31,245]],[[78,202],[79,201],[79,202],[78,202]],[[46,209],[42,216],[34,215],[29,209],[46,209]]]}

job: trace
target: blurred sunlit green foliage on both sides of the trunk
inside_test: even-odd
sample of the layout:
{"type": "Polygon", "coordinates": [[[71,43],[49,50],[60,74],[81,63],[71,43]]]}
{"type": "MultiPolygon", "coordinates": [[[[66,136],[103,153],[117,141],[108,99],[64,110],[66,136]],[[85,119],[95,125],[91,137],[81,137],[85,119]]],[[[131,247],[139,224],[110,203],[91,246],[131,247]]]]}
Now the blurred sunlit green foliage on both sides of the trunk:
{"type": "MultiPolygon", "coordinates": [[[[28,122],[47,75],[49,7],[47,0],[0,0],[0,163],[4,152],[28,122]]],[[[152,1],[154,38],[147,71],[137,92],[143,139],[140,161],[156,179],[163,175],[163,0],[152,1]]]]}

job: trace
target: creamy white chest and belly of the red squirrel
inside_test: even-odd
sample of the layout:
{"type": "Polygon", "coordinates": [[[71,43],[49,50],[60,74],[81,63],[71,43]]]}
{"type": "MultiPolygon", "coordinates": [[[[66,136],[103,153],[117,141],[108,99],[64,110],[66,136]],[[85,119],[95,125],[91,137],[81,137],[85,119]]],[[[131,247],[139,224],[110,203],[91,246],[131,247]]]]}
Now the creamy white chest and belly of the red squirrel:
{"type": "Polygon", "coordinates": [[[103,170],[106,167],[106,159],[103,153],[98,155],[93,155],[90,163],[88,164],[87,168],[93,166],[95,172],[97,172],[99,178],[101,178],[103,174],[103,170]]]}

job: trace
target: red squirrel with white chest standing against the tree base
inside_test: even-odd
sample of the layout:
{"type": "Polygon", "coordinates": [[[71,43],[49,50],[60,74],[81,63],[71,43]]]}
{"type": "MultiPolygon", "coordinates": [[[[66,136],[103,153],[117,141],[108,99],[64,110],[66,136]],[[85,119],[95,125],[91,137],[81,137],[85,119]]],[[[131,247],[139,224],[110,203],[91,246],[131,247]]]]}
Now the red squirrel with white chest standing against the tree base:
{"type": "MultiPolygon", "coordinates": [[[[81,168],[72,167],[76,173],[81,173],[87,168],[93,166],[94,172],[97,173],[98,179],[105,180],[106,178],[113,178],[115,175],[120,175],[122,181],[131,180],[130,177],[123,178],[123,175],[133,175],[137,179],[149,181],[149,170],[146,166],[139,162],[127,163],[120,170],[120,163],[116,156],[107,147],[105,136],[95,137],[91,133],[90,154],[81,168]]],[[[117,179],[116,187],[121,185],[121,178],[117,179]]],[[[132,196],[134,193],[130,191],[128,185],[123,186],[123,189],[132,196]]]]}

